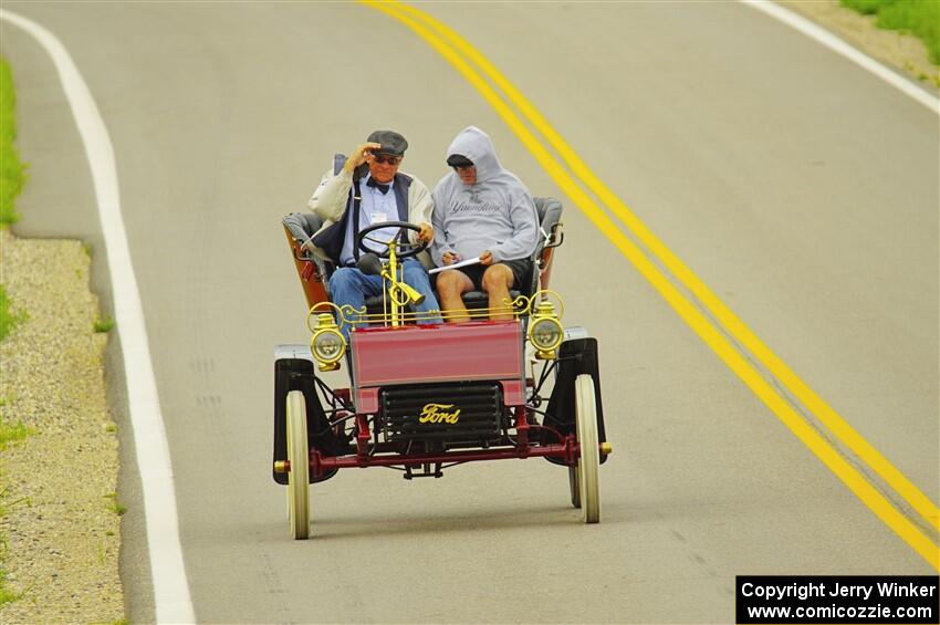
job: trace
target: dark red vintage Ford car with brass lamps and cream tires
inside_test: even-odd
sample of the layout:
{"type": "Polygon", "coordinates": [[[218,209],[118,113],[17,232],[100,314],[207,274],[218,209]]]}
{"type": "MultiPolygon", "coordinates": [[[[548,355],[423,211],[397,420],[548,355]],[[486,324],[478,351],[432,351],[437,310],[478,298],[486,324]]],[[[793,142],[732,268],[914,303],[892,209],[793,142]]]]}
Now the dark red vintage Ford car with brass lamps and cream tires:
{"type": "Polygon", "coordinates": [[[398,280],[397,267],[421,248],[399,241],[407,240],[401,232],[417,229],[405,222],[359,232],[356,244],[369,252],[359,267],[383,275],[385,292],[367,300],[367,310],[341,309],[330,300],[334,268],[303,247],[318,218],[284,218],[313,333],[310,345],[278,346],[274,358],[272,477],[288,487],[293,538],[310,532],[310,485],[354,467],[386,467],[410,480],[440,478],[466,462],[544,458],[567,467],[571,502],[584,522],[600,520],[599,465],[612,448],[597,342],[560,322],[563,304],[547,283],[564,238],[562,205],[551,198],[535,204],[542,240],[532,275],[511,292],[511,319],[502,321],[490,320],[487,293],[474,291],[464,296],[469,322],[416,323],[420,313],[408,304],[420,295],[398,280]],[[385,251],[374,254],[364,241],[382,242],[385,251]],[[351,329],[349,345],[343,324],[351,329]],[[348,384],[327,384],[324,378],[337,374],[323,373],[343,365],[348,384]]]}

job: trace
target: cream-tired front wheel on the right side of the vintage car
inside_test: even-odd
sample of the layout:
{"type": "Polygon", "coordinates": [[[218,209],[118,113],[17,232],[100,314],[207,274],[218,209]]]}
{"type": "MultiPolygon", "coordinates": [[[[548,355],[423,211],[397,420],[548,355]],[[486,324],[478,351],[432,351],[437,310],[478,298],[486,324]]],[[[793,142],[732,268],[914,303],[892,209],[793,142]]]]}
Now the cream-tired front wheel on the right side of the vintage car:
{"type": "MultiPolygon", "coordinates": [[[[600,521],[600,452],[597,442],[597,406],[594,400],[594,378],[581,374],[574,383],[577,418],[577,483],[582,517],[585,523],[600,521]]],[[[574,493],[572,494],[574,503],[574,493]]]]}

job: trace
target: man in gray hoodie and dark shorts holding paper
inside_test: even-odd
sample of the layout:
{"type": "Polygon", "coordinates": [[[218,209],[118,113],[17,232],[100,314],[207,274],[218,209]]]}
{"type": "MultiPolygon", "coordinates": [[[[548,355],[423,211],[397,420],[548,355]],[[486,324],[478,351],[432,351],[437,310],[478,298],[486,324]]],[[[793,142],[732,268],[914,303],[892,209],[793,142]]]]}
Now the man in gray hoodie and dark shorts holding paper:
{"type": "Polygon", "coordinates": [[[461,295],[482,289],[490,319],[512,319],[509,290],[532,270],[539,216],[525,185],[503,169],[493,142],[476,126],[460,132],[447,149],[453,170],[434,190],[435,242],[439,267],[479,259],[479,264],[440,272],[437,290],[448,321],[469,321],[461,295]]]}

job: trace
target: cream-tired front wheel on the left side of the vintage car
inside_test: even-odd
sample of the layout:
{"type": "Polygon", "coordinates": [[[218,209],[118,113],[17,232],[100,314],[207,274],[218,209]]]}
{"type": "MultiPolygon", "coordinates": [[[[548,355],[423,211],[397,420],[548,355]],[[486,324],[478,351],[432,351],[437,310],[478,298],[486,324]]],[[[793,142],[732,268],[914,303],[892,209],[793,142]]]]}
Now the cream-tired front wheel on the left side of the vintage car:
{"type": "Polygon", "coordinates": [[[288,517],[291,537],[310,533],[310,445],[306,438],[306,400],[300,390],[288,394],[288,517]]]}

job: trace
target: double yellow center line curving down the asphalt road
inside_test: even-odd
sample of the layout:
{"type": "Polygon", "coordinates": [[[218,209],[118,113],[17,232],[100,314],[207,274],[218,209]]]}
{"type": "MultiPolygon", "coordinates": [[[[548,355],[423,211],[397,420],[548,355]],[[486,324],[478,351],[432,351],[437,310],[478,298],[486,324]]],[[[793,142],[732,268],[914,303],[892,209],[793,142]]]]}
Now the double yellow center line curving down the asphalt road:
{"type": "Polygon", "coordinates": [[[404,23],[453,65],[495,110],[562,191],[634,264],[696,334],[865,506],[931,566],[940,571],[940,548],[920,528],[898,511],[826,438],[821,436],[796,412],[790,400],[749,362],[741,350],[746,351],[751,358],[761,363],[761,366],[775,378],[777,384],[786,388],[802,403],[806,410],[827,428],[826,434],[828,436],[852,450],[861,462],[877,473],[890,489],[923,518],[931,530],[940,530],[940,510],[937,506],[806,386],[688,267],[650,232],[629,208],[591,171],[539,111],[482,54],[452,29],[414,7],[396,1],[363,0],[362,3],[404,23]],[[534,135],[526,127],[520,115],[537,131],[541,137],[534,135]],[[554,149],[557,156],[549,150],[546,144],[554,149]],[[562,165],[562,162],[564,165],[562,165]],[[593,194],[594,198],[585,189],[593,194]],[[666,268],[671,273],[672,279],[681,284],[697,302],[690,301],[676,288],[669,277],[625,235],[602,206],[613,213],[637,241],[643,243],[648,253],[661,267],[666,268]],[[697,303],[708,311],[711,319],[699,310],[697,303]],[[740,350],[729,341],[728,336],[733,337],[740,345],[740,350]]]}

